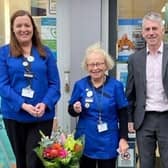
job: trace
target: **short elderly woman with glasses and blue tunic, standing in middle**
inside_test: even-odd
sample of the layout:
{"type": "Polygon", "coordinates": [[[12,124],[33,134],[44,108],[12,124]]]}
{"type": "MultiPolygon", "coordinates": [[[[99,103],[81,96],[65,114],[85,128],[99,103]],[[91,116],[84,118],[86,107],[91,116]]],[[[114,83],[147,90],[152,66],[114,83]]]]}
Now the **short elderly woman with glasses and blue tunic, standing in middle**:
{"type": "Polygon", "coordinates": [[[117,149],[128,149],[123,85],[107,75],[114,62],[99,44],[86,50],[82,65],[89,75],[75,83],[68,107],[71,116],[79,116],[76,138],[85,137],[80,168],[115,168],[117,149]]]}

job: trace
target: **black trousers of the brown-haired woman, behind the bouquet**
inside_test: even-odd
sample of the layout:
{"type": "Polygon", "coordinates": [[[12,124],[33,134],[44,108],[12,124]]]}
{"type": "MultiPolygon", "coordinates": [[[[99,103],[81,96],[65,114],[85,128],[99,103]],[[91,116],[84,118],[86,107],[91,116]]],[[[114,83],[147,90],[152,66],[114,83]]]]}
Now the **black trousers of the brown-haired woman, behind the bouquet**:
{"type": "Polygon", "coordinates": [[[37,123],[20,123],[4,119],[7,135],[16,157],[17,168],[43,168],[40,159],[34,152],[41,139],[39,130],[50,136],[53,120],[37,123]]]}

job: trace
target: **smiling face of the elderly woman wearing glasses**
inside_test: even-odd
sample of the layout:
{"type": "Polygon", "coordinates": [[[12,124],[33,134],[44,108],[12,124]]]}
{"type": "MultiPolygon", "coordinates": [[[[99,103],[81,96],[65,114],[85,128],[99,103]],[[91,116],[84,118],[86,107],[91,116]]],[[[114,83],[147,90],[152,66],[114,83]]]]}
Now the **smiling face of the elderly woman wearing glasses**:
{"type": "Polygon", "coordinates": [[[87,57],[87,71],[94,81],[102,81],[104,79],[107,66],[105,59],[100,53],[92,52],[87,57]]]}

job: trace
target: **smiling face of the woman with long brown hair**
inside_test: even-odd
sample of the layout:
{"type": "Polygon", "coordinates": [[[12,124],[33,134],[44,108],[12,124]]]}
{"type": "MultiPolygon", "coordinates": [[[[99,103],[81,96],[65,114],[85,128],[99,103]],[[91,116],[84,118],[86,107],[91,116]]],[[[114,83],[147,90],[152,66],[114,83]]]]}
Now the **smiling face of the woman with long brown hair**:
{"type": "Polygon", "coordinates": [[[32,43],[33,25],[27,15],[16,17],[12,28],[20,45],[32,43]]]}

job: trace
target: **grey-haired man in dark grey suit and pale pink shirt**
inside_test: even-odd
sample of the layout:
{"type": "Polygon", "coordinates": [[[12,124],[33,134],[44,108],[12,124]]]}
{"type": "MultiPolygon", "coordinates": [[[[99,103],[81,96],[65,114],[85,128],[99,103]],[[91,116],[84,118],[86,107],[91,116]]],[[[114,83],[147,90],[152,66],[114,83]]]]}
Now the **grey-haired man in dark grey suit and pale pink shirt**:
{"type": "Polygon", "coordinates": [[[168,45],[160,14],[144,16],[142,35],[146,48],[128,61],[128,130],[136,131],[141,168],[155,167],[157,144],[163,168],[168,168],[168,45]]]}

